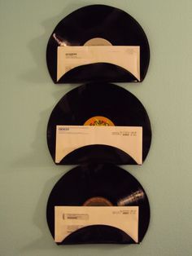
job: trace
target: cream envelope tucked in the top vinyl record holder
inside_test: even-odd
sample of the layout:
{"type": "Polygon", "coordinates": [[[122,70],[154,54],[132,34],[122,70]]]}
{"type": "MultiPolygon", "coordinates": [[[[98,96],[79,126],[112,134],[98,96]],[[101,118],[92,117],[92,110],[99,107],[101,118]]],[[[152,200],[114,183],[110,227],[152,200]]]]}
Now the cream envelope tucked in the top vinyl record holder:
{"type": "Polygon", "coordinates": [[[140,81],[140,46],[58,46],[57,81],[72,68],[94,63],[115,64],[140,81]]]}

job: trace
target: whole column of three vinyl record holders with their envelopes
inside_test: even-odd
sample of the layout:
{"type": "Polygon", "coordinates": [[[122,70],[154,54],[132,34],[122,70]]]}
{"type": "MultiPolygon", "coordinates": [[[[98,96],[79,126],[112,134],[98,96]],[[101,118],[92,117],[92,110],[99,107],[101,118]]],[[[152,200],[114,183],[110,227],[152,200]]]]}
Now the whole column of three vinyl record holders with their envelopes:
{"type": "Polygon", "coordinates": [[[119,166],[145,161],[151,122],[140,100],[111,82],[143,81],[150,61],[146,34],[120,9],[82,7],[56,26],[46,60],[56,84],[84,83],[55,104],[47,125],[55,164],[78,165],[50,192],[51,235],[58,245],[140,243],[150,223],[149,201],[119,166]]]}

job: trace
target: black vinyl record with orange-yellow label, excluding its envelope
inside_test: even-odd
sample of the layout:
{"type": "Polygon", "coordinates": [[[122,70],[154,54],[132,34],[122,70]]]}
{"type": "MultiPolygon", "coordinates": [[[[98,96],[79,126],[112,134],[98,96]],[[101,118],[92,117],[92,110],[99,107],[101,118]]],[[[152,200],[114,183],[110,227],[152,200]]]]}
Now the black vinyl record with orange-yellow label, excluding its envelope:
{"type": "MultiPolygon", "coordinates": [[[[56,104],[47,126],[47,143],[55,161],[56,126],[90,125],[102,117],[112,126],[142,126],[142,161],[151,146],[151,123],[142,103],[128,90],[108,83],[89,83],[69,91],[56,104]]],[[[99,124],[98,124],[99,125],[99,124]]],[[[113,163],[137,164],[119,148],[90,145],[69,153],[59,164],[113,163]]]]}

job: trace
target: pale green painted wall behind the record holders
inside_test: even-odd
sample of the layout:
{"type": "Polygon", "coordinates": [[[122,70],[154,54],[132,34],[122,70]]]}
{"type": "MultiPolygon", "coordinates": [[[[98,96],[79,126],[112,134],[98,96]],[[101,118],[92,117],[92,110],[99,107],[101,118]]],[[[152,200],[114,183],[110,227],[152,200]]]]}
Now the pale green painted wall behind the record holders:
{"type": "Polygon", "coordinates": [[[192,254],[191,24],[190,0],[0,1],[0,255],[192,254]],[[151,223],[141,245],[59,247],[46,225],[50,191],[72,168],[55,166],[46,125],[55,104],[75,87],[51,81],[46,43],[59,20],[94,3],[133,15],[151,46],[145,80],[120,85],[142,101],[153,131],[143,166],[124,166],[142,183],[151,203],[151,223]]]}

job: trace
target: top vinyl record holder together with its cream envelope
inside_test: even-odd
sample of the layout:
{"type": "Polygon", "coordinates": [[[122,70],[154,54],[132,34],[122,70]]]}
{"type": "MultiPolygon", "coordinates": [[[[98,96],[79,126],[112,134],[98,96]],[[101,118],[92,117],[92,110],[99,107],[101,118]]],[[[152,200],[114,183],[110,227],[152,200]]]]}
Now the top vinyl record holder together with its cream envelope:
{"type": "Polygon", "coordinates": [[[73,11],[55,27],[46,61],[55,83],[142,82],[150,48],[142,26],[131,15],[115,7],[90,5],[73,11]]]}

